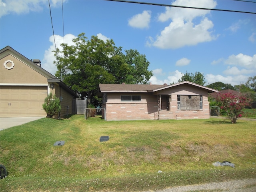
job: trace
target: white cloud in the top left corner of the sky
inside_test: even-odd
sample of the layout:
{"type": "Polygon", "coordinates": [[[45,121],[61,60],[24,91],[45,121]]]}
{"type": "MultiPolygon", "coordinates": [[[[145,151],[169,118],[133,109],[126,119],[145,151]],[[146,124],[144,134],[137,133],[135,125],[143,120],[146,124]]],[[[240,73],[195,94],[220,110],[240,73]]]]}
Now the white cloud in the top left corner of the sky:
{"type": "MultiPolygon", "coordinates": [[[[65,0],[64,0],[65,2],[65,0]]],[[[60,0],[51,0],[50,6],[61,6],[60,0]]],[[[8,14],[27,14],[29,12],[40,12],[44,6],[49,6],[46,0],[0,0],[0,17],[8,14]]]]}

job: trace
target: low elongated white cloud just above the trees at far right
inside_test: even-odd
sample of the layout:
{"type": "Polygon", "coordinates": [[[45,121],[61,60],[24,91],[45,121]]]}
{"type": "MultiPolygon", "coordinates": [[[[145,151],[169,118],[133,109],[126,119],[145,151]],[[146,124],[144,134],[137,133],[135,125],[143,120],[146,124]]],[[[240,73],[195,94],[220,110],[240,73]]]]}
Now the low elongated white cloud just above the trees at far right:
{"type": "Polygon", "coordinates": [[[213,75],[213,74],[206,74],[205,80],[207,84],[211,84],[214,82],[223,82],[228,83],[231,85],[239,85],[241,83],[245,83],[248,79],[248,76],[245,75],[236,75],[236,76],[222,76],[222,75],[213,75]]]}

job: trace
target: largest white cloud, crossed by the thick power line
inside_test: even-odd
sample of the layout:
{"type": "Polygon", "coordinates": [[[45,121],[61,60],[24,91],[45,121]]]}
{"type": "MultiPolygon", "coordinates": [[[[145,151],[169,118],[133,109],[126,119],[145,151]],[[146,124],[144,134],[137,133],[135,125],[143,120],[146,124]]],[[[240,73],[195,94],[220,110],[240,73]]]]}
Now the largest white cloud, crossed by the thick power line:
{"type": "MultiPolygon", "coordinates": [[[[214,0],[176,0],[172,5],[214,8],[216,2],[214,0]]],[[[155,40],[149,37],[147,45],[153,45],[162,49],[176,49],[215,40],[217,36],[212,35],[210,31],[214,24],[204,17],[209,12],[209,10],[166,7],[166,12],[160,14],[158,20],[165,22],[171,19],[172,21],[169,26],[162,30],[160,35],[156,36],[155,40]],[[201,21],[199,24],[194,24],[192,21],[197,17],[201,17],[201,21]]]]}

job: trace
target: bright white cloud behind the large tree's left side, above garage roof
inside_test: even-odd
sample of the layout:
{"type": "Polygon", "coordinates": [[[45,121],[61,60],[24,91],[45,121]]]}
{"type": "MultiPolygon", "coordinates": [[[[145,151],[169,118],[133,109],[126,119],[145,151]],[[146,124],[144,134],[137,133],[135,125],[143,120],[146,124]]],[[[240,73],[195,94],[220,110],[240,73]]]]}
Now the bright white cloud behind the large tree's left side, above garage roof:
{"type": "MultiPolygon", "coordinates": [[[[62,47],[60,44],[63,43],[63,37],[60,35],[54,35],[56,47],[62,50],[62,47]]],[[[72,39],[76,38],[76,36],[72,34],[66,34],[64,36],[65,44],[74,45],[74,42],[72,42],[72,39]]],[[[56,60],[54,53],[52,52],[55,50],[55,44],[54,44],[54,38],[53,35],[50,36],[49,41],[52,43],[52,45],[44,52],[44,59],[42,60],[42,68],[44,68],[49,73],[55,75],[55,72],[57,71],[57,67],[53,63],[54,60],[56,60]]]]}

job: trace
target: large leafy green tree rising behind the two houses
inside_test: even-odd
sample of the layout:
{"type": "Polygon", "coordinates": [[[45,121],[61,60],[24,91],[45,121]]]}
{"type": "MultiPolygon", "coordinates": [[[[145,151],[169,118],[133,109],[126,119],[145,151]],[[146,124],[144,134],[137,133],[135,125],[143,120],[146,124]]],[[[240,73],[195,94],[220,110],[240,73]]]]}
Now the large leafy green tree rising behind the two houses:
{"type": "Polygon", "coordinates": [[[87,40],[81,33],[73,42],[71,46],[61,44],[62,50],[55,51],[55,75],[81,98],[87,98],[88,104],[100,104],[100,83],[146,84],[153,75],[145,55],[137,50],[125,50],[123,54],[122,47],[116,47],[112,39],[103,41],[92,36],[87,40]]]}

